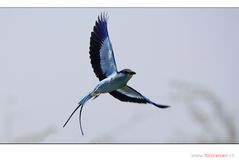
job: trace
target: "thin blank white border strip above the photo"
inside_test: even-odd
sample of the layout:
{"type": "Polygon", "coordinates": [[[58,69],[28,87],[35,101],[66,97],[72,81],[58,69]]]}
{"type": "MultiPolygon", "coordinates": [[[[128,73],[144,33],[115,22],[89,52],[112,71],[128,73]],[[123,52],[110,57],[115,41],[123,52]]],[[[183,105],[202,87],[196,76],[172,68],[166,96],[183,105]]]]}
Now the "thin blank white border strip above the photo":
{"type": "Polygon", "coordinates": [[[0,7],[239,7],[238,0],[1,0],[0,7]]]}

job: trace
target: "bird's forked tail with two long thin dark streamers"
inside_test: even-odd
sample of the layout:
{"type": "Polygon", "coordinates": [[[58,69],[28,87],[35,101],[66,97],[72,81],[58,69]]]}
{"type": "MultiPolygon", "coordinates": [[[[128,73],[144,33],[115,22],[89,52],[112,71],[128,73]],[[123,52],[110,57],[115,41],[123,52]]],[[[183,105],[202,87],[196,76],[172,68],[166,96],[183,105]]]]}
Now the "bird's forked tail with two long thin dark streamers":
{"type": "Polygon", "coordinates": [[[92,96],[92,93],[90,92],[90,93],[88,93],[86,96],[84,96],[84,97],[80,100],[78,106],[77,106],[76,109],[71,113],[71,115],[69,116],[69,118],[67,119],[67,121],[66,121],[66,123],[63,125],[63,127],[66,126],[66,124],[69,122],[69,120],[70,120],[71,117],[74,115],[74,113],[78,110],[79,107],[81,107],[81,108],[80,108],[80,114],[79,114],[79,123],[80,123],[81,133],[82,133],[82,135],[84,135],[84,132],[83,132],[83,129],[82,129],[82,125],[81,125],[81,112],[82,112],[82,109],[83,109],[85,103],[86,103],[88,100],[90,100],[92,97],[93,97],[93,96],[92,96]]]}

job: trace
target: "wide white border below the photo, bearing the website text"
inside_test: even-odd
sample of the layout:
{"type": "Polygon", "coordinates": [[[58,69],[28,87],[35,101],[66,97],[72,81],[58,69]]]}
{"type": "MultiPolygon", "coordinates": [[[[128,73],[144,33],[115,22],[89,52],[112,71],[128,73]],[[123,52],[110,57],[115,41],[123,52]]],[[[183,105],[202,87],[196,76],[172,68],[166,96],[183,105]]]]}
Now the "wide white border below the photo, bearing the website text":
{"type": "Polygon", "coordinates": [[[238,165],[238,145],[0,145],[0,166],[230,166],[238,165]],[[193,157],[203,155],[202,157],[193,157]],[[233,157],[205,157],[205,154],[233,157]]]}

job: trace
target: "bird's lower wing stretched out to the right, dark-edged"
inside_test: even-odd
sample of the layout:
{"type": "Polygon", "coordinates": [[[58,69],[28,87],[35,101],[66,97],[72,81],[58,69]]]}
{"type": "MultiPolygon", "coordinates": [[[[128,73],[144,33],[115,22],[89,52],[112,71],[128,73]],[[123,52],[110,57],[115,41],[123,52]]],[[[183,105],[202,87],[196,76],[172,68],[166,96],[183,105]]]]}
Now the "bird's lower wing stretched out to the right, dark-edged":
{"type": "Polygon", "coordinates": [[[153,104],[159,108],[167,108],[167,105],[156,104],[143,96],[141,93],[136,91],[135,89],[131,88],[130,86],[125,86],[121,89],[117,89],[115,91],[109,92],[113,97],[119,99],[120,101],[124,102],[134,102],[134,103],[149,103],[153,104]]]}

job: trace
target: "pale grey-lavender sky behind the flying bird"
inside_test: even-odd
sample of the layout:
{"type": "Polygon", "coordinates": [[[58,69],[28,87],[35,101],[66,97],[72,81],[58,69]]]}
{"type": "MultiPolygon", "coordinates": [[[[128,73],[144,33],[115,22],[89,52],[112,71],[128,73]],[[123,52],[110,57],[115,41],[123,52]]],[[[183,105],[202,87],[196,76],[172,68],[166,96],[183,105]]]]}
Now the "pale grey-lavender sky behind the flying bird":
{"type": "Polygon", "coordinates": [[[228,142],[223,121],[208,117],[213,138],[194,120],[185,99],[201,89],[235,119],[239,141],[237,8],[1,8],[0,24],[0,142],[228,142]],[[172,107],[101,95],[84,107],[81,136],[78,114],[62,125],[98,82],[88,52],[102,11],[118,69],[137,72],[129,85],[172,107]]]}

